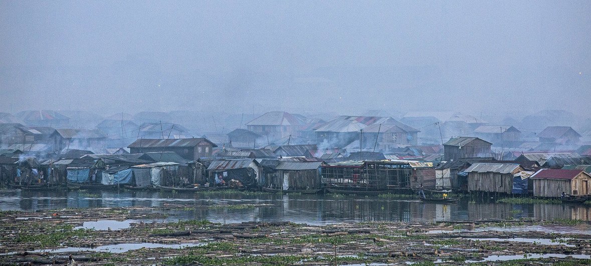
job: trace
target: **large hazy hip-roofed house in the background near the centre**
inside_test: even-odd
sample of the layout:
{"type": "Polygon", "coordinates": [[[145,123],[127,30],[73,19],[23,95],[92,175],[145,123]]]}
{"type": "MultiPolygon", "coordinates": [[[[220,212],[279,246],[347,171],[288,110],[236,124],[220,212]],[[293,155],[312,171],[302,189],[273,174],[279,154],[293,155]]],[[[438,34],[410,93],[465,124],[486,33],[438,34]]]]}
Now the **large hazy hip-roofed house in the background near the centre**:
{"type": "Polygon", "coordinates": [[[246,123],[249,131],[267,138],[267,142],[276,142],[296,137],[300,127],[305,125],[303,116],[288,112],[267,112],[264,115],[246,123]]]}

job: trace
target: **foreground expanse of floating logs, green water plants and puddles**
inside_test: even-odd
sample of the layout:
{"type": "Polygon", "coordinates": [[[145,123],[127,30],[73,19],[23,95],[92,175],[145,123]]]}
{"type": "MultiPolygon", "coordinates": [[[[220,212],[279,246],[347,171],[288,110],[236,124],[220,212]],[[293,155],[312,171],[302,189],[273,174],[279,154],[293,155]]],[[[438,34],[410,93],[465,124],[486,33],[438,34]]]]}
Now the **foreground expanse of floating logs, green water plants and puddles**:
{"type": "Polygon", "coordinates": [[[182,207],[3,211],[0,265],[65,264],[70,254],[79,265],[591,263],[589,223],[577,220],[359,222],[324,226],[290,222],[170,222],[174,220],[174,210],[182,207]],[[97,220],[101,222],[93,222],[97,220]],[[534,225],[560,229],[531,229],[534,225]]]}

